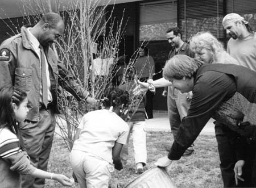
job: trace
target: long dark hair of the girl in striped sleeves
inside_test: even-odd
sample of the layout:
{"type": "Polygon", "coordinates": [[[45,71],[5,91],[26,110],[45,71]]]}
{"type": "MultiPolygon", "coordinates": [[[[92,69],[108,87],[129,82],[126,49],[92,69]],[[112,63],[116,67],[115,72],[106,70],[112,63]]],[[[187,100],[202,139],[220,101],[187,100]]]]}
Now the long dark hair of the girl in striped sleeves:
{"type": "Polygon", "coordinates": [[[0,90],[0,128],[11,129],[15,123],[13,103],[19,106],[26,97],[26,92],[18,88],[4,87],[0,90]]]}

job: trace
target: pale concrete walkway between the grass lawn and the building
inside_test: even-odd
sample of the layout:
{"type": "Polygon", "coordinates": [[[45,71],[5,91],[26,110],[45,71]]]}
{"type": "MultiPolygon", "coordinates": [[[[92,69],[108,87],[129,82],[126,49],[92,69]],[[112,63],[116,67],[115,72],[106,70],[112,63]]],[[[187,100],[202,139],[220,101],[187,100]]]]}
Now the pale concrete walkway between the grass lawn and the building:
{"type": "MultiPolygon", "coordinates": [[[[210,119],[201,135],[214,135],[214,119],[210,119]]],[[[146,131],[171,131],[167,113],[154,113],[154,118],[146,119],[146,131]]]]}

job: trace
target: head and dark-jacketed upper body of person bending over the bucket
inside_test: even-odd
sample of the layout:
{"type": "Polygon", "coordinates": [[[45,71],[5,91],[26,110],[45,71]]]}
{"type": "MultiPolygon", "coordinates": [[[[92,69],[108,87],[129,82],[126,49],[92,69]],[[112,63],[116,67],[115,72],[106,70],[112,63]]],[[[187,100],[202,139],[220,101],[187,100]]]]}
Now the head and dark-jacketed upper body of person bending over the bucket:
{"type": "Polygon", "coordinates": [[[203,64],[177,55],[168,62],[163,75],[181,92],[193,91],[188,115],[183,118],[168,153],[170,160],[179,160],[212,117],[234,128],[245,121],[256,125],[256,72],[253,70],[233,64],[203,64]],[[230,103],[232,101],[236,103],[230,103]],[[228,116],[223,112],[224,106],[237,113],[228,116]]]}

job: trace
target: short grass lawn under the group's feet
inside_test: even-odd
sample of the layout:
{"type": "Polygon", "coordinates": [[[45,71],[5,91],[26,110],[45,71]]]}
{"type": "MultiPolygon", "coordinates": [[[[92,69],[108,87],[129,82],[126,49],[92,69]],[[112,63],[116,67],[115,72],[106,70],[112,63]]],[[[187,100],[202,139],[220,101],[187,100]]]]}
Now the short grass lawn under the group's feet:
{"type": "MultiPolygon", "coordinates": [[[[166,147],[170,146],[172,141],[173,137],[170,132],[147,132],[147,169],[154,167],[154,162],[158,158],[167,155],[166,147]]],[[[134,178],[139,176],[135,174],[134,169],[132,139],[129,143],[129,152],[130,160],[128,160],[125,168],[121,172],[115,170],[112,174],[110,180],[112,188],[125,187],[134,178]]],[[[170,174],[172,182],[179,188],[218,188],[223,187],[219,164],[215,136],[200,135],[195,141],[195,152],[192,156],[181,157],[179,161],[172,162],[168,166],[167,172],[170,174]]],[[[65,147],[64,141],[59,136],[55,136],[53,141],[48,171],[63,173],[68,177],[72,177],[69,152],[65,147]]],[[[46,187],[57,188],[63,186],[56,181],[47,180],[46,187]]]]}

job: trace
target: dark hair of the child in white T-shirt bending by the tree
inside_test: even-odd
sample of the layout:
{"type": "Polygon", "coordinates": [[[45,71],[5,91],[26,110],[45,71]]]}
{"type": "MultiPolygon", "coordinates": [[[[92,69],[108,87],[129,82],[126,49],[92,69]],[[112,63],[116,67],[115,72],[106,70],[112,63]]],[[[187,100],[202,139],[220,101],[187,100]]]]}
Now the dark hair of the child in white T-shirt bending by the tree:
{"type": "Polygon", "coordinates": [[[129,93],[127,91],[123,91],[116,87],[110,87],[104,93],[104,106],[119,106],[119,105],[128,105],[129,103],[129,93]]]}

